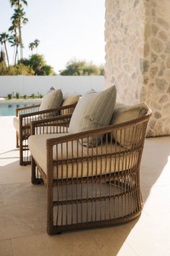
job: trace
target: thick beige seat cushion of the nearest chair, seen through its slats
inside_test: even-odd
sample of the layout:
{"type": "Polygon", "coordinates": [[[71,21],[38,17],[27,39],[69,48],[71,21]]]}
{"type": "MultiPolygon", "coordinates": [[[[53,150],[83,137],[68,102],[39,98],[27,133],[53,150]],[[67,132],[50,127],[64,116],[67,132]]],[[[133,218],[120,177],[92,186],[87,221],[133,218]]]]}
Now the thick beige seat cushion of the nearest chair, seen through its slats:
{"type": "MultiPolygon", "coordinates": [[[[30,148],[30,152],[33,155],[33,158],[40,165],[41,169],[45,173],[47,173],[46,169],[46,139],[51,138],[59,138],[63,136],[63,134],[43,134],[30,136],[28,139],[28,146],[30,148]]],[[[104,152],[122,152],[123,148],[121,146],[115,146],[111,144],[110,146],[97,146],[92,148],[88,148],[86,146],[82,146],[77,141],[73,141],[73,151],[72,151],[72,142],[68,142],[68,144],[61,144],[58,146],[58,160],[70,160],[69,163],[59,164],[56,168],[54,166],[54,179],[55,178],[71,178],[73,177],[85,177],[85,176],[95,176],[106,173],[114,173],[117,171],[127,170],[132,168],[137,164],[137,160],[139,157],[138,152],[129,152],[124,156],[122,154],[118,154],[117,157],[96,157],[95,159],[84,160],[83,162],[78,161],[77,157],[87,157],[90,155],[98,156],[101,154],[101,150],[104,152]],[[68,154],[67,154],[68,148],[68,154]],[[72,162],[72,159],[75,159],[72,162]]],[[[54,146],[53,159],[56,160],[56,146],[54,146]]]]}

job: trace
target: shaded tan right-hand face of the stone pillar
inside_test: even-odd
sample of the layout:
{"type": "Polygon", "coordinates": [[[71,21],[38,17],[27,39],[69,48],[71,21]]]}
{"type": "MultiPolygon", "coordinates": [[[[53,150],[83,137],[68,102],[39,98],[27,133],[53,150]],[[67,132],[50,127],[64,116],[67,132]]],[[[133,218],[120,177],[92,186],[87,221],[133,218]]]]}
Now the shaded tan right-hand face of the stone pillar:
{"type": "Polygon", "coordinates": [[[145,1],[143,100],[153,110],[149,136],[170,134],[170,1],[145,1]]]}

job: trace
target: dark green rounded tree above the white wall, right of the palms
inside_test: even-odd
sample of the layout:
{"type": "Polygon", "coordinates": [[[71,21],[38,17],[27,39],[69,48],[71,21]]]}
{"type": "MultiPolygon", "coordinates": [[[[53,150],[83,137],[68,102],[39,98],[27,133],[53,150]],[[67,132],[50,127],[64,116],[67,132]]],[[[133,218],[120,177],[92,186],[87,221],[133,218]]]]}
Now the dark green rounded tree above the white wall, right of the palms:
{"type": "Polygon", "coordinates": [[[31,67],[35,75],[54,75],[53,67],[46,64],[43,55],[33,54],[29,59],[21,59],[20,63],[27,67],[31,67]]]}

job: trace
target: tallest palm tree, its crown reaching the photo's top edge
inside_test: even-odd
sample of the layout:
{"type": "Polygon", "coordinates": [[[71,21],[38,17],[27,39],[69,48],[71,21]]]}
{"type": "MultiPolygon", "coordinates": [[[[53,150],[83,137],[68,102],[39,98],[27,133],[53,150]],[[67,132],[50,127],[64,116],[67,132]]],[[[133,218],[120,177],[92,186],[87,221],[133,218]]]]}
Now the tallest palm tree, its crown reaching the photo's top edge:
{"type": "Polygon", "coordinates": [[[23,5],[27,5],[26,0],[10,0],[12,7],[17,7],[17,9],[14,9],[14,15],[12,15],[12,23],[16,26],[19,33],[20,38],[20,57],[23,57],[22,53],[22,33],[21,33],[21,24],[26,24],[28,22],[27,18],[25,17],[24,9],[22,8],[23,5]]]}

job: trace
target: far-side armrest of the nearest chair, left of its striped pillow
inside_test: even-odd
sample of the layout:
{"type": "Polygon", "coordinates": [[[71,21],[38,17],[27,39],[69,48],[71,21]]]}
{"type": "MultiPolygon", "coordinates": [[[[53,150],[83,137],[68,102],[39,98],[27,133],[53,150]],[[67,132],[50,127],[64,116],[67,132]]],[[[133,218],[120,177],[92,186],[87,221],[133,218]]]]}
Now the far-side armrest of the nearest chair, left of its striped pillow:
{"type": "Polygon", "coordinates": [[[71,120],[72,114],[69,115],[59,115],[56,117],[48,117],[46,119],[34,120],[30,122],[31,135],[43,134],[43,133],[64,133],[64,129],[61,127],[68,128],[69,122],[71,120]],[[51,129],[46,129],[51,127],[51,129]],[[60,127],[60,128],[59,128],[60,127]],[[41,129],[40,129],[41,128],[41,129]]]}

